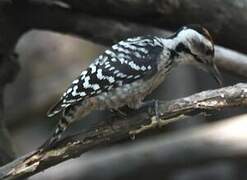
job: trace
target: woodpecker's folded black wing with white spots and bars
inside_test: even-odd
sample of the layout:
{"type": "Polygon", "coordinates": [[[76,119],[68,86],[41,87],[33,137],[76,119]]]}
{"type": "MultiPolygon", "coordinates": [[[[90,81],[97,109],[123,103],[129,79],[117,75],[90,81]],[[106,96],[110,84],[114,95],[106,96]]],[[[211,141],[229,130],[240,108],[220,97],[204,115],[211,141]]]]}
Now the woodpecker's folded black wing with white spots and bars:
{"type": "Polygon", "coordinates": [[[138,79],[148,79],[157,72],[163,50],[155,36],[129,38],[113,45],[73,81],[60,101],[48,112],[51,117],[61,110],[138,79]]]}

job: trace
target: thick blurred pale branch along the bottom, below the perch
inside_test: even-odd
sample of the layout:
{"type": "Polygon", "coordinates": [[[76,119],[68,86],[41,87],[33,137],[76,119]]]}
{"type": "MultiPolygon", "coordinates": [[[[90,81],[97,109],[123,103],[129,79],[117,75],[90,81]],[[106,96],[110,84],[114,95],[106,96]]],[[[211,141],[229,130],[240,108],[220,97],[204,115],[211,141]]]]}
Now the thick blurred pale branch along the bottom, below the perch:
{"type": "MultiPolygon", "coordinates": [[[[247,115],[85,154],[45,177],[87,180],[244,180],[247,115]],[[65,174],[62,173],[70,169],[65,174]],[[95,173],[97,172],[97,173],[95,173]],[[62,174],[62,175],[60,175],[62,174]]],[[[42,174],[37,175],[38,179],[42,174]]]]}

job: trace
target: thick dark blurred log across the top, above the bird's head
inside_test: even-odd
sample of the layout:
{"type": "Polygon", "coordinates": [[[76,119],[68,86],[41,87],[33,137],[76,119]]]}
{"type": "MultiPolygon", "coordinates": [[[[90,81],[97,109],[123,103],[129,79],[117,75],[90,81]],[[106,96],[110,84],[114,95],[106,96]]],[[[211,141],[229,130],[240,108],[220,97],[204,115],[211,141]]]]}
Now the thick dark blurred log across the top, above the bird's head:
{"type": "MultiPolygon", "coordinates": [[[[33,4],[44,3],[30,0],[33,4]]],[[[49,5],[64,7],[58,1],[49,5]]],[[[163,29],[175,30],[181,25],[199,23],[213,33],[217,43],[232,49],[246,50],[247,2],[245,0],[60,0],[73,13],[111,17],[124,22],[138,22],[163,29]]],[[[97,29],[97,28],[96,28],[97,29]]]]}

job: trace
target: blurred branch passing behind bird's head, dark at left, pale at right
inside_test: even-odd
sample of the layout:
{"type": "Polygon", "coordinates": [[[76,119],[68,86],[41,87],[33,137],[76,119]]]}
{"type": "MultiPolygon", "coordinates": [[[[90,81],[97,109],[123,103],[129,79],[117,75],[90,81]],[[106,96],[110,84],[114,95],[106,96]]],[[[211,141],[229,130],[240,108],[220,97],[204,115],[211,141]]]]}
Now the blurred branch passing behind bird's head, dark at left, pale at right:
{"type": "MultiPolygon", "coordinates": [[[[172,33],[149,25],[92,16],[44,3],[25,6],[24,12],[20,15],[21,19],[30,28],[69,33],[106,46],[127,37],[147,34],[168,36],[172,33]]],[[[215,55],[220,69],[247,77],[247,55],[221,46],[216,46],[215,55]]]]}

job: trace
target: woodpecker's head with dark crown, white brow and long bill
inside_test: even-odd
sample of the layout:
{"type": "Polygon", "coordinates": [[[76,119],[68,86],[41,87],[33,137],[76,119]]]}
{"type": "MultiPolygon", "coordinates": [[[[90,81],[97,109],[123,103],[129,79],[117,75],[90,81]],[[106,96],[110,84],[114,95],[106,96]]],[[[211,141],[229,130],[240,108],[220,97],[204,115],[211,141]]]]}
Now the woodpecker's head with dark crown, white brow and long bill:
{"type": "Polygon", "coordinates": [[[214,62],[214,42],[208,30],[200,25],[182,27],[176,33],[176,51],[184,54],[187,62],[212,74],[222,86],[221,74],[214,62]]]}

